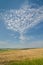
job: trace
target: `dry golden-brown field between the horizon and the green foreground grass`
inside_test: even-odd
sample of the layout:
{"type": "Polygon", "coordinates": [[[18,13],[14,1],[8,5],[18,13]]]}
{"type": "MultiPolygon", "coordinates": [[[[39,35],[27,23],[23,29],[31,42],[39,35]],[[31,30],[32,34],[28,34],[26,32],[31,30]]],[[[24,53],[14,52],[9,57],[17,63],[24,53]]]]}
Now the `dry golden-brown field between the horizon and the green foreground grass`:
{"type": "Polygon", "coordinates": [[[0,62],[43,58],[43,48],[0,52],[0,62]]]}

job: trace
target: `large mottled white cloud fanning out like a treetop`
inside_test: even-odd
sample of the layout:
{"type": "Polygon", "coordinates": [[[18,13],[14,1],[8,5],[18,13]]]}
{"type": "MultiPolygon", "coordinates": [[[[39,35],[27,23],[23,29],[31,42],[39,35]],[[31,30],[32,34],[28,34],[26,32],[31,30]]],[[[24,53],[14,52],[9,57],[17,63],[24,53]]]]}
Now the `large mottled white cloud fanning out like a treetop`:
{"type": "Polygon", "coordinates": [[[30,29],[41,22],[43,19],[43,6],[32,8],[27,4],[20,9],[7,10],[1,15],[6,27],[18,31],[21,35],[27,28],[30,29]]]}

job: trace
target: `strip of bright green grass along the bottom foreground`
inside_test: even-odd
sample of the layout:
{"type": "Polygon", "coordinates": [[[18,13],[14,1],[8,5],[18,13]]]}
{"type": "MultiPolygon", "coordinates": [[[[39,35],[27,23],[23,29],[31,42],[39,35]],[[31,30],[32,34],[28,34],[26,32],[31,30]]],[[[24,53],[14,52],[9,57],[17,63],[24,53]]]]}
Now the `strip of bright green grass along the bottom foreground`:
{"type": "Polygon", "coordinates": [[[24,61],[9,61],[2,63],[3,65],[43,65],[43,59],[33,59],[24,61]]]}

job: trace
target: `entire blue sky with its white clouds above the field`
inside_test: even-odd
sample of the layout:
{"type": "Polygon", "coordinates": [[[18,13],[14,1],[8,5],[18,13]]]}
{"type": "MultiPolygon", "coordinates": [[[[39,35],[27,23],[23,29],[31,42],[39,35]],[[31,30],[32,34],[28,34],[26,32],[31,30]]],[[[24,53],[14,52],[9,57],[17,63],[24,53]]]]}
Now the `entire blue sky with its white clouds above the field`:
{"type": "Polygon", "coordinates": [[[43,47],[43,0],[0,0],[0,48],[43,47]]]}

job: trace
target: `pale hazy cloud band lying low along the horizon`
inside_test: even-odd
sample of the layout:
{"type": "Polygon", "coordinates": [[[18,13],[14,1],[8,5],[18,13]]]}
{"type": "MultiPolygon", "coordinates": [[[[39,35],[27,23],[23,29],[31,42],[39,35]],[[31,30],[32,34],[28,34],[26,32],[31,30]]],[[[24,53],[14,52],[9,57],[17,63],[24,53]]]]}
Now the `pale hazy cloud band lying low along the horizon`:
{"type": "Polygon", "coordinates": [[[0,48],[37,48],[43,47],[43,40],[38,41],[31,41],[25,43],[10,43],[8,41],[0,41],[0,48]]]}

